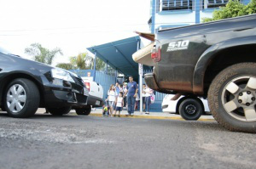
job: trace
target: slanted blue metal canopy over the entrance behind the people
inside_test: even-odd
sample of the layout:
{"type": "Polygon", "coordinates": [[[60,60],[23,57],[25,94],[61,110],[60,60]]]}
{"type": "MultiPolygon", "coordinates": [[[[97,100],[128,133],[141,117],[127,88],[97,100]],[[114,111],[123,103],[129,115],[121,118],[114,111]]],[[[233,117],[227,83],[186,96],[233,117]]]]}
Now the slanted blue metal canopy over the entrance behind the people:
{"type": "Polygon", "coordinates": [[[140,37],[129,37],[115,42],[87,48],[96,57],[102,59],[114,69],[126,76],[138,76],[138,64],[133,61],[131,55],[137,51],[137,42],[140,37]]]}

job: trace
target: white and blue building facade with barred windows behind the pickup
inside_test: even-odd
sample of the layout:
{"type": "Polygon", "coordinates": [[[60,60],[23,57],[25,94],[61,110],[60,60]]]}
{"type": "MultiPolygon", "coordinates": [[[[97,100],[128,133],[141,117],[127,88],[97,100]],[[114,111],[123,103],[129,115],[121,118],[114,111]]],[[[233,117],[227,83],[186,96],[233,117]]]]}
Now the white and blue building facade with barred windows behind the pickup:
{"type": "MultiPolygon", "coordinates": [[[[212,12],[229,0],[151,0],[148,25],[154,33],[160,29],[194,25],[203,18],[212,18],[212,12]]],[[[247,4],[250,0],[241,0],[247,4]]]]}

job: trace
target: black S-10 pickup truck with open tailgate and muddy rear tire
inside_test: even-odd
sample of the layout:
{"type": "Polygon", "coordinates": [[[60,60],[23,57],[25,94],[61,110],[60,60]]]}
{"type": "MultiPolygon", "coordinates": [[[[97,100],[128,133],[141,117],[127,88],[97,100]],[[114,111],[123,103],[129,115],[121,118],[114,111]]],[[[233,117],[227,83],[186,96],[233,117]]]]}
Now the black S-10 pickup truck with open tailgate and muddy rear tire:
{"type": "Polygon", "coordinates": [[[148,87],[205,97],[223,127],[256,132],[256,14],[139,34],[153,41],[133,54],[154,66],[148,87]]]}

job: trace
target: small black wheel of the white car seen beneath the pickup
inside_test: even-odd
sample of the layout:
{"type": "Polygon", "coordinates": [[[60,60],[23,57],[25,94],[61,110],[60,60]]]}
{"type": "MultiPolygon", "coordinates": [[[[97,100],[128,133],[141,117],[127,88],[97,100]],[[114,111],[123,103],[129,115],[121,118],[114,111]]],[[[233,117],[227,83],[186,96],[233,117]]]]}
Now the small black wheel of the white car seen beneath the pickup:
{"type": "Polygon", "coordinates": [[[203,108],[197,99],[184,99],[178,111],[186,121],[197,121],[201,117],[203,108]]]}

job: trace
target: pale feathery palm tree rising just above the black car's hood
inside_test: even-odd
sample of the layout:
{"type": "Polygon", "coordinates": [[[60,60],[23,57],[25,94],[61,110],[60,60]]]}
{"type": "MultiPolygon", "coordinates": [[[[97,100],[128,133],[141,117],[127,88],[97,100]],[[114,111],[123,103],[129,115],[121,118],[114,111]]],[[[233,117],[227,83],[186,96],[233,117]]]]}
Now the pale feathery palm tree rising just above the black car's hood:
{"type": "Polygon", "coordinates": [[[29,48],[25,48],[25,54],[29,54],[35,61],[51,65],[56,54],[62,54],[61,48],[49,50],[39,43],[32,43],[29,48]]]}

